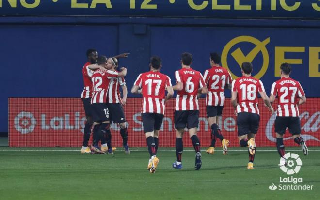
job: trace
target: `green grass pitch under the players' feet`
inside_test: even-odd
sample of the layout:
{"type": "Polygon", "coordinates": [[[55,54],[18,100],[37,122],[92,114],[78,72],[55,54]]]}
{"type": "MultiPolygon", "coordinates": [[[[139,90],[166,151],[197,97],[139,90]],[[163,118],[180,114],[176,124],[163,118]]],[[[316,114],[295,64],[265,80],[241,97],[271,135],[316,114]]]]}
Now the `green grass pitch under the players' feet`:
{"type": "MultiPolygon", "coordinates": [[[[220,148],[217,148],[220,150],[220,148]]],[[[134,149],[132,149],[134,150],[134,149]]],[[[245,148],[231,148],[228,155],[202,152],[202,168],[194,170],[194,152],[186,148],[183,169],[173,169],[174,149],[160,148],[155,174],[147,170],[146,148],[124,154],[80,154],[80,148],[0,147],[0,200],[316,200],[320,197],[320,151],[310,148],[304,156],[298,148],[286,152],[300,155],[303,166],[293,177],[297,185],[312,190],[270,190],[279,177],[275,148],[258,148],[255,169],[247,170],[245,148]],[[22,150],[22,151],[21,151],[22,150]],[[46,150],[46,151],[42,151],[46,150]],[[57,151],[58,150],[58,151],[57,151]],[[236,150],[236,151],[232,151],[236,150]],[[260,150],[260,151],[259,151],[260,150]],[[264,151],[261,151],[264,150],[264,151]],[[299,150],[299,151],[297,151],[299,150]]],[[[205,150],[205,148],[202,148],[205,150]]],[[[291,185],[291,183],[284,183],[291,185]]]]}

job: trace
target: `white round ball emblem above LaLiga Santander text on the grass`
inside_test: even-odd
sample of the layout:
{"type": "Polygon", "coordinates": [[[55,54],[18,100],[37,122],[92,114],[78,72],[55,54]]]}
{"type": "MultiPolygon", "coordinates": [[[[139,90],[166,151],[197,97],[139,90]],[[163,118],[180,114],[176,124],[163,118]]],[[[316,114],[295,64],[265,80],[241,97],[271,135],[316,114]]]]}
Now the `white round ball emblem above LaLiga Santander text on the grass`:
{"type": "Polygon", "coordinates": [[[298,154],[289,152],[280,158],[280,169],[288,175],[298,173],[301,166],[302,161],[298,154]]]}

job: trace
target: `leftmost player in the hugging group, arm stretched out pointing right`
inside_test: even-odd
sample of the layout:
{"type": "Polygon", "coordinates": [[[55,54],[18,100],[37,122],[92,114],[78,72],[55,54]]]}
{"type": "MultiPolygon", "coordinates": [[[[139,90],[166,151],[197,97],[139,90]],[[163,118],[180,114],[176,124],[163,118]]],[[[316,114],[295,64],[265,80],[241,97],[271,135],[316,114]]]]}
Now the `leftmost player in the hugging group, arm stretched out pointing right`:
{"type": "MultiPolygon", "coordinates": [[[[129,53],[123,53],[115,57],[127,58],[128,54],[129,53]]],[[[90,104],[93,91],[92,91],[92,82],[90,77],[93,75],[93,70],[96,70],[99,68],[99,66],[92,66],[92,64],[96,64],[97,62],[96,60],[98,58],[98,52],[96,51],[96,49],[92,49],[92,48],[88,49],[86,51],[86,56],[87,56],[87,62],[82,67],[82,77],[83,77],[84,88],[81,93],[81,99],[82,99],[87,121],[84,125],[81,153],[91,152],[90,148],[88,147],[88,142],[90,139],[91,129],[93,125],[91,104],[90,104]],[[89,65],[91,65],[91,67],[89,67],[89,65]]]]}

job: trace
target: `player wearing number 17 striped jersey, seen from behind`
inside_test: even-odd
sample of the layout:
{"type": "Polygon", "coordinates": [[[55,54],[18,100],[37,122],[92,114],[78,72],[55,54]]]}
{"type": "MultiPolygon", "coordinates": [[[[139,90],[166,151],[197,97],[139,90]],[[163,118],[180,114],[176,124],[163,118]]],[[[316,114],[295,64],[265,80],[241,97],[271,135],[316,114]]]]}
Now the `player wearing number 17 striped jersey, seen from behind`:
{"type": "Polygon", "coordinates": [[[142,93],[142,123],[150,154],[147,169],[155,173],[159,159],[157,150],[159,146],[159,132],[163,121],[164,104],[173,96],[171,80],[167,75],[160,73],[162,61],[158,56],[150,59],[150,71],[142,73],[131,89],[133,94],[142,93]],[[139,90],[141,88],[141,90],[139,90]],[[165,96],[165,90],[168,91],[165,96]]]}

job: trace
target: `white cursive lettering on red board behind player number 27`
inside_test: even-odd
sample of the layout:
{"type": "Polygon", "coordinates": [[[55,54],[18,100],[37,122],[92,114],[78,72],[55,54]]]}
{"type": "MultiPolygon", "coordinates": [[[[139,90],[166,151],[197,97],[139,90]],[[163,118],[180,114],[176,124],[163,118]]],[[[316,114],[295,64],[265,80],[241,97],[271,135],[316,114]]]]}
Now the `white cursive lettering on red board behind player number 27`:
{"type": "MultiPolygon", "coordinates": [[[[266,137],[272,141],[272,142],[276,142],[277,139],[274,138],[272,136],[272,129],[273,129],[273,124],[275,121],[275,117],[276,115],[272,115],[266,125],[266,137]]],[[[305,119],[307,120],[306,123],[301,127],[301,130],[304,130],[305,132],[317,132],[320,128],[319,123],[320,123],[320,112],[315,112],[311,117],[310,117],[310,113],[305,111],[300,115],[300,119],[305,119]],[[313,124],[311,124],[313,123],[313,124]]],[[[320,140],[312,135],[308,135],[308,134],[301,134],[301,137],[304,138],[304,141],[308,141],[308,140],[316,140],[318,142],[320,142],[320,140]]],[[[284,138],[284,140],[288,140],[291,139],[290,136],[288,136],[287,138],[284,138]]]]}

